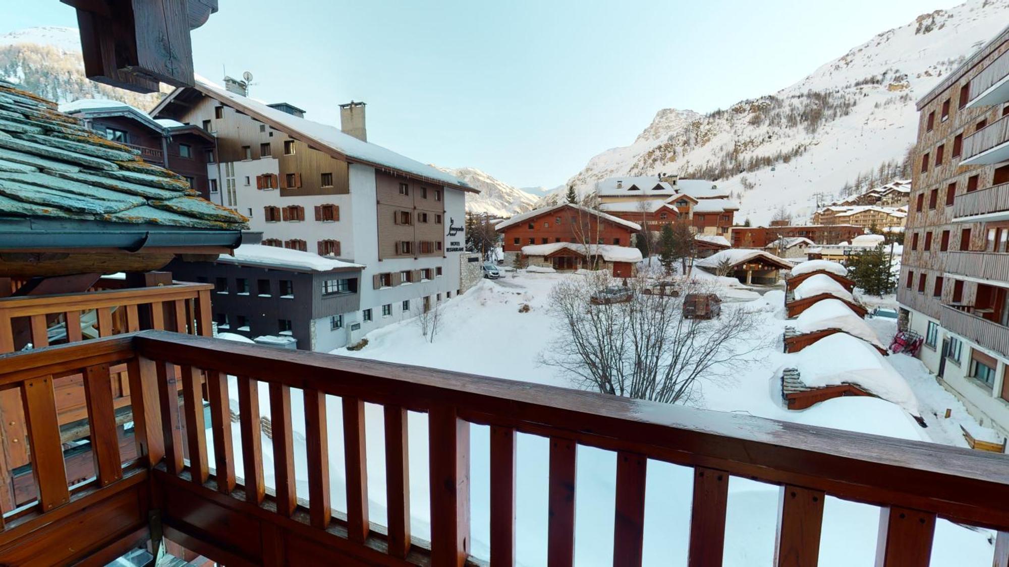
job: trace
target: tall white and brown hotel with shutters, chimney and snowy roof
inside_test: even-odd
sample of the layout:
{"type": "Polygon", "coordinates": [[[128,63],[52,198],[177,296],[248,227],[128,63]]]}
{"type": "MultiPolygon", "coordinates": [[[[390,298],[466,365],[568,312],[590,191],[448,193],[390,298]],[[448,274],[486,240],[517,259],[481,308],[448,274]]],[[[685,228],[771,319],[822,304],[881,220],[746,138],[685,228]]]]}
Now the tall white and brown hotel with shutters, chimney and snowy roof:
{"type": "Polygon", "coordinates": [[[262,244],[364,266],[360,310],[345,326],[363,335],[459,293],[465,195],[476,190],[368,142],[363,103],[341,105],[338,128],[249,98],[244,82],[226,85],[198,79],[151,115],[215,135],[212,196],[248,216],[262,244]]]}

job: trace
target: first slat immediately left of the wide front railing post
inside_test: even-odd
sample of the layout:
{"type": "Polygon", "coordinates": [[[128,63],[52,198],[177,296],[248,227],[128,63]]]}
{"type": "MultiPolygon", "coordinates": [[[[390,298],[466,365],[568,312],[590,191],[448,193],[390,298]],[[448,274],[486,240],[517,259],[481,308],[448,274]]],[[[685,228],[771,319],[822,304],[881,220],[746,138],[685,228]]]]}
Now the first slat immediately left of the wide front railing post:
{"type": "Polygon", "coordinates": [[[388,517],[388,552],[406,557],[410,552],[410,447],[407,410],[385,406],[385,502],[388,517]]]}

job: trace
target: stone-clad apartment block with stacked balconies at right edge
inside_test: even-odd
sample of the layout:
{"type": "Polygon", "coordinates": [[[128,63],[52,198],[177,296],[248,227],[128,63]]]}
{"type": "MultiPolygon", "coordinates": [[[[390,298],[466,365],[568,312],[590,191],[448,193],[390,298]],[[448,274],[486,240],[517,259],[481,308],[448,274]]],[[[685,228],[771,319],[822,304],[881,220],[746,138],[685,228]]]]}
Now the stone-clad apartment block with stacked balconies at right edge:
{"type": "Polygon", "coordinates": [[[918,101],[897,299],[921,360],[1009,433],[1009,27],[918,101]]]}

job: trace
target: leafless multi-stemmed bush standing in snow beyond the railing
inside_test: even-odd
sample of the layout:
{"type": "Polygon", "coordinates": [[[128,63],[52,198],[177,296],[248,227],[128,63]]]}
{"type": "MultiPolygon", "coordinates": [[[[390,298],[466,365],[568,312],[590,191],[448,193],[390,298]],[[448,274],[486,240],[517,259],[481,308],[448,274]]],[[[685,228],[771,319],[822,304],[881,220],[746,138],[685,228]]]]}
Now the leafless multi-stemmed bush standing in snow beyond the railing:
{"type": "Polygon", "coordinates": [[[742,305],[710,321],[683,318],[683,298],[710,293],[684,281],[679,297],[642,293],[648,279],[628,280],[630,301],[593,305],[613,280],[590,274],[557,285],[550,295],[557,338],[541,362],[563,368],[584,387],[603,393],[685,404],[697,399],[700,379],[728,379],[765,347],[756,316],[742,305]]]}

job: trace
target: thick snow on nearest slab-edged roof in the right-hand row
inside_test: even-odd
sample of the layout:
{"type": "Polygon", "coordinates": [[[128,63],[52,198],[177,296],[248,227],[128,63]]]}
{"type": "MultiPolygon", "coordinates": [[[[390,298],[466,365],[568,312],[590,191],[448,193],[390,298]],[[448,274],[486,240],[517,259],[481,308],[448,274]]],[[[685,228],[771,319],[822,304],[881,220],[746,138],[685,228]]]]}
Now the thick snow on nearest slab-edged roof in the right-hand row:
{"type": "Polygon", "coordinates": [[[799,352],[785,355],[786,366],[799,370],[812,387],[855,384],[919,416],[918,401],[907,380],[869,343],[847,333],[834,333],[799,352]]]}

